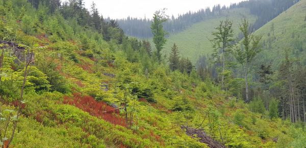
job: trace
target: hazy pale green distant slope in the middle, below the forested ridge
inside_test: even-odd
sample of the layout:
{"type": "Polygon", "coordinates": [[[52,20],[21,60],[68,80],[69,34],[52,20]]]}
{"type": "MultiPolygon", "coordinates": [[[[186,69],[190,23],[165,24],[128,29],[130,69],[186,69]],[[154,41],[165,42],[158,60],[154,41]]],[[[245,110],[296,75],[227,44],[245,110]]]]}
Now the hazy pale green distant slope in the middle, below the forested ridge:
{"type": "Polygon", "coordinates": [[[226,17],[233,21],[233,29],[235,36],[239,33],[239,23],[247,17],[250,22],[255,21],[256,17],[249,14],[247,9],[233,9],[228,12],[222,12],[222,16],[218,18],[208,19],[196,24],[193,24],[185,31],[177,34],[171,34],[167,38],[164,53],[169,54],[172,45],[175,43],[179,46],[181,55],[188,57],[193,63],[198,60],[202,54],[211,54],[212,44],[209,39],[212,38],[214,28],[220,24],[221,20],[226,17]]]}

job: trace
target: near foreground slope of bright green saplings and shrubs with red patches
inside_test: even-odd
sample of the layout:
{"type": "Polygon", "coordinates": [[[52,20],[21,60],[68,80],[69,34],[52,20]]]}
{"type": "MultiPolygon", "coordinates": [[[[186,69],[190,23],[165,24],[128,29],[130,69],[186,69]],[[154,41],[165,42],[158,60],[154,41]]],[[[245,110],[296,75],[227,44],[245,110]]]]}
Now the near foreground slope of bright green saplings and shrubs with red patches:
{"type": "Polygon", "coordinates": [[[107,42],[79,24],[87,19],[40,7],[0,0],[0,145],[16,129],[10,147],[207,147],[182,126],[227,147],[306,141],[298,125],[250,111],[195,71],[170,72],[148,55],[128,61],[129,51],[115,44],[119,28],[108,27],[118,38],[107,42]]]}

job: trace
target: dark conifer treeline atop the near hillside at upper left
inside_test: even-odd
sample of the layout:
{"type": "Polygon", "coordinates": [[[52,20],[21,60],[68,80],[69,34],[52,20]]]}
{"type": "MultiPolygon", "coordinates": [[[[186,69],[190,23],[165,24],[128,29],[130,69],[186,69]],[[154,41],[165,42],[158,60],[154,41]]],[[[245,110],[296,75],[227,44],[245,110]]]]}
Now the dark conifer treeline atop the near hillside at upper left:
{"type": "MultiPolygon", "coordinates": [[[[93,31],[103,35],[103,39],[110,41],[116,39],[118,43],[122,43],[123,31],[115,20],[105,20],[99,14],[94,3],[91,10],[87,10],[83,0],[71,0],[61,3],[60,0],[28,0],[35,9],[43,10],[47,8],[48,13],[60,13],[64,19],[71,23],[76,21],[77,24],[90,27],[93,31]],[[44,8],[46,7],[46,8],[44,8]]],[[[21,3],[19,5],[22,5],[21,3]]],[[[42,14],[41,14],[42,15],[42,14]]],[[[42,21],[42,18],[40,18],[42,21]]]]}

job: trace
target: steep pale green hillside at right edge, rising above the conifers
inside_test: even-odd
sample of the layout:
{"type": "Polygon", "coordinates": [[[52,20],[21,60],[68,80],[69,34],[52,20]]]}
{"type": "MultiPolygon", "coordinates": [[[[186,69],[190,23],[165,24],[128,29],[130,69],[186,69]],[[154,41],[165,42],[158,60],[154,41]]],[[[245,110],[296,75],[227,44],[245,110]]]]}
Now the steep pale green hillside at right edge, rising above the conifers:
{"type": "Polygon", "coordinates": [[[306,1],[302,0],[256,31],[256,35],[262,36],[264,50],[261,56],[265,62],[278,68],[285,50],[288,50],[291,57],[306,65],[305,12],[306,1]]]}

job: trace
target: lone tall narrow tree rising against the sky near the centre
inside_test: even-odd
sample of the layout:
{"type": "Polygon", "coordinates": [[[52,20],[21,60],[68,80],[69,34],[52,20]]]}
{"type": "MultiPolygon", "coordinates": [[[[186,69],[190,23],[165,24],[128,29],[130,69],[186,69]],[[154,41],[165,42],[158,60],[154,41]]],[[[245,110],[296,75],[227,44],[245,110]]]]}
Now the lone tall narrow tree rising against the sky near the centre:
{"type": "Polygon", "coordinates": [[[151,31],[153,34],[153,42],[156,47],[156,54],[158,58],[158,62],[161,62],[161,50],[163,49],[164,45],[166,44],[165,35],[167,34],[163,28],[163,22],[167,21],[167,16],[165,14],[166,9],[162,9],[156,11],[154,13],[153,22],[151,24],[151,31]]]}

